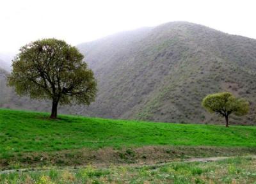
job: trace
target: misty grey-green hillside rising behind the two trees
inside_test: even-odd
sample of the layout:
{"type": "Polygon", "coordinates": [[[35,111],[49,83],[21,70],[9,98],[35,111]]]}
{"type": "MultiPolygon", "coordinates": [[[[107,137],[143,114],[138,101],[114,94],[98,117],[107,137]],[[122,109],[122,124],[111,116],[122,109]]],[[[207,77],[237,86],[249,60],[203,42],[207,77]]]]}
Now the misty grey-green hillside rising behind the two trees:
{"type": "MultiPolygon", "coordinates": [[[[201,101],[209,93],[230,91],[248,99],[252,107],[249,115],[232,117],[230,123],[256,125],[256,40],[189,22],[170,22],[77,47],[95,72],[99,93],[90,107],[64,107],[60,112],[223,123],[223,118],[205,112],[201,101]]],[[[13,104],[17,100],[12,98],[2,106],[13,104]]],[[[15,108],[35,108],[34,104],[19,105],[15,108]]],[[[49,111],[49,104],[38,104],[35,110],[46,109],[49,111]]]]}

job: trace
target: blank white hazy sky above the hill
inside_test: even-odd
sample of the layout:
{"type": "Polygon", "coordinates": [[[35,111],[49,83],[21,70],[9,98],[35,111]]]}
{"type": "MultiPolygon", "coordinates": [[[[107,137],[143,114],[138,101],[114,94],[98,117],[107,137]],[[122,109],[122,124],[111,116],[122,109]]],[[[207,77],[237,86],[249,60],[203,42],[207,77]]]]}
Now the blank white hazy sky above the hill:
{"type": "Polygon", "coordinates": [[[256,38],[255,8],[253,0],[0,0],[0,52],[40,38],[76,45],[177,20],[256,38]]]}

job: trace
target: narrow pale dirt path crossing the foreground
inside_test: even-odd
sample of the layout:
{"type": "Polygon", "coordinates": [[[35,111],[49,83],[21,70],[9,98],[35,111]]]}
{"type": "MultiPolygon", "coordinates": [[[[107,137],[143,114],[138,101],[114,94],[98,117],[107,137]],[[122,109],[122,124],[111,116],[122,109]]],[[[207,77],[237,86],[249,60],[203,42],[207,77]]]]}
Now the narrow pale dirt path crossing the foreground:
{"type": "MultiPolygon", "coordinates": [[[[256,155],[248,155],[248,156],[241,156],[243,158],[255,158],[256,159],[256,155]]],[[[167,164],[171,164],[173,162],[215,162],[218,160],[225,160],[227,158],[236,158],[236,157],[208,157],[208,158],[188,158],[188,159],[184,159],[184,160],[172,160],[170,162],[164,162],[161,164],[122,164],[122,166],[126,166],[126,167],[147,167],[147,166],[162,166],[162,165],[167,165],[167,164]]],[[[96,168],[98,167],[102,167],[102,165],[93,165],[96,168]]],[[[118,165],[117,165],[118,166],[118,165]]],[[[83,167],[86,167],[86,165],[83,166],[76,166],[76,167],[72,167],[72,166],[66,166],[66,167],[45,167],[45,169],[43,169],[42,167],[36,167],[36,168],[24,168],[24,169],[10,169],[10,170],[4,170],[4,171],[0,171],[0,174],[8,174],[8,173],[24,173],[24,172],[38,172],[38,171],[50,171],[52,169],[55,169],[57,171],[61,171],[61,170],[75,170],[75,169],[81,169],[83,167]]]]}

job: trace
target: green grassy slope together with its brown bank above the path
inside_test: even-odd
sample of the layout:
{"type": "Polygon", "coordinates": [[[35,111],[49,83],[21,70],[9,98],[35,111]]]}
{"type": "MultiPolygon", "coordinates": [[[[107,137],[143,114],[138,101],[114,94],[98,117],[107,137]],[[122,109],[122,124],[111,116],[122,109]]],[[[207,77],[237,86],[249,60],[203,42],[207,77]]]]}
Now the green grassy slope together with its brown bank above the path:
{"type": "Polygon", "coordinates": [[[184,155],[256,153],[256,127],[48,117],[46,113],[0,109],[2,167],[13,167],[13,163],[31,167],[33,164],[79,165],[93,159],[135,162],[144,157],[161,160],[184,155]]]}

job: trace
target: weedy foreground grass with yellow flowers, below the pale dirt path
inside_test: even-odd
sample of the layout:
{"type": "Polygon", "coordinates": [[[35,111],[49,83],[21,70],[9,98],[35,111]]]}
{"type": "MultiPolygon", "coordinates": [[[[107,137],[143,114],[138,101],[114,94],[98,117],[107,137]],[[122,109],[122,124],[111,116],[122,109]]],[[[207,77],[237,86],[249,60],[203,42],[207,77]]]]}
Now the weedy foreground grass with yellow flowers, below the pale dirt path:
{"type": "Polygon", "coordinates": [[[0,183],[256,183],[256,159],[173,162],[144,167],[51,169],[1,174],[0,183]]]}

